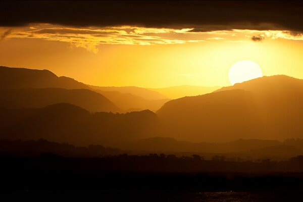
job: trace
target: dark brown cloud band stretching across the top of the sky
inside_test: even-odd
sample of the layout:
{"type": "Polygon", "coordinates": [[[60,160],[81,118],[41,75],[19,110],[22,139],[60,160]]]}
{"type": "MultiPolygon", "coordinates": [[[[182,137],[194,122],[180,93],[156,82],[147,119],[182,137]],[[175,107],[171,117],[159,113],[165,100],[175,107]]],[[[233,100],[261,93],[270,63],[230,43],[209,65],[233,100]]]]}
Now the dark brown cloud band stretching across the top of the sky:
{"type": "Polygon", "coordinates": [[[0,3],[0,26],[52,23],[74,27],[135,25],[194,31],[303,31],[299,1],[20,1],[0,3]]]}

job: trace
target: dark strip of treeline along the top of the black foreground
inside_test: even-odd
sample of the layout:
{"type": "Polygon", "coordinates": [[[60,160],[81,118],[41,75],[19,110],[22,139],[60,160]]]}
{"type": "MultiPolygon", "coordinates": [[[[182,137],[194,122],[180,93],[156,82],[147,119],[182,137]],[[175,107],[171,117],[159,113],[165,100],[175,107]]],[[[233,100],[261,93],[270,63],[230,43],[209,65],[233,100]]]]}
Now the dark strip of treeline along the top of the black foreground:
{"type": "MultiPolygon", "coordinates": [[[[91,146],[89,149],[97,150],[91,146]]],[[[106,148],[99,147],[106,150],[106,148]]],[[[118,151],[117,151],[118,152],[118,151]]],[[[88,153],[87,153],[88,154],[88,153]]],[[[93,153],[91,153],[93,154],[93,153]]],[[[105,156],[100,158],[67,158],[53,153],[41,153],[38,157],[2,156],[4,167],[31,168],[51,170],[99,170],[99,171],[130,171],[130,172],[168,172],[168,173],[198,173],[198,172],[232,172],[232,173],[285,173],[303,172],[303,156],[293,157],[287,161],[274,162],[228,162],[224,157],[214,157],[204,160],[198,155],[177,157],[175,155],[150,154],[145,156],[127,154],[105,156]],[[26,163],[25,163],[26,162],[26,163]],[[12,167],[11,167],[12,166],[12,167]]]]}

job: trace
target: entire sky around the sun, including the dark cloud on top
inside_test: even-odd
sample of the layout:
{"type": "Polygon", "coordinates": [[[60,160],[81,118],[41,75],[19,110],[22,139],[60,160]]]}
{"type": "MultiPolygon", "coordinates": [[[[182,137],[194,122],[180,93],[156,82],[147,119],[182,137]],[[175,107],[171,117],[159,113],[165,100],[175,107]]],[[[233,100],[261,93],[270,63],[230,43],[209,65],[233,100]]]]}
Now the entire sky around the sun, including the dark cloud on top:
{"type": "Polygon", "coordinates": [[[303,79],[302,2],[1,4],[0,66],[161,88],[227,86],[230,67],[250,60],[303,79]]]}

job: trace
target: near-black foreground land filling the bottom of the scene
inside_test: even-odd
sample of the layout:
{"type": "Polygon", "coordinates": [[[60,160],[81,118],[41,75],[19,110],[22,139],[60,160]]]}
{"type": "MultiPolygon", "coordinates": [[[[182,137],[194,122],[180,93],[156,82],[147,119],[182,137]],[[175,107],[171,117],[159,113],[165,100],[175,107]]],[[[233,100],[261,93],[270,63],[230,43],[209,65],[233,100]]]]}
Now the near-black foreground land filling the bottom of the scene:
{"type": "MultiPolygon", "coordinates": [[[[97,197],[102,201],[297,201],[303,192],[303,173],[299,170],[224,172],[225,167],[229,170],[231,162],[194,158],[153,155],[63,158],[42,154],[39,157],[2,156],[0,161],[1,194],[10,197],[97,197]],[[217,172],[192,172],[195,169],[191,167],[195,164],[212,165],[217,172]],[[186,167],[188,169],[183,170],[186,167]]],[[[239,168],[243,165],[243,162],[233,163],[239,168]]],[[[249,165],[273,168],[271,162],[250,162],[249,165]]],[[[275,165],[279,167],[278,163],[275,165]]],[[[299,169],[301,158],[296,157],[282,165],[285,168],[296,165],[299,169]]]]}

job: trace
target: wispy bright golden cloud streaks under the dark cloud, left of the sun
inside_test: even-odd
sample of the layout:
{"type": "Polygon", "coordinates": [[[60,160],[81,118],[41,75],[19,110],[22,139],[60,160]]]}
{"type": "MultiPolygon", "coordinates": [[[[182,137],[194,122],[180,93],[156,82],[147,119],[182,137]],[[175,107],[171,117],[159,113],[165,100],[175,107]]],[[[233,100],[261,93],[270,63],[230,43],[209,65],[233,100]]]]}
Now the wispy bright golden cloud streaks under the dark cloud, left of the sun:
{"type": "Polygon", "coordinates": [[[74,28],[49,24],[31,24],[19,27],[9,37],[68,42],[71,44],[71,48],[82,47],[89,52],[97,53],[97,46],[100,44],[155,45],[204,41],[199,38],[184,37],[184,34],[189,30],[191,29],[156,29],[131,26],[74,28]],[[178,36],[174,34],[178,34],[178,36]],[[174,35],[174,37],[171,35],[174,35]]]}

